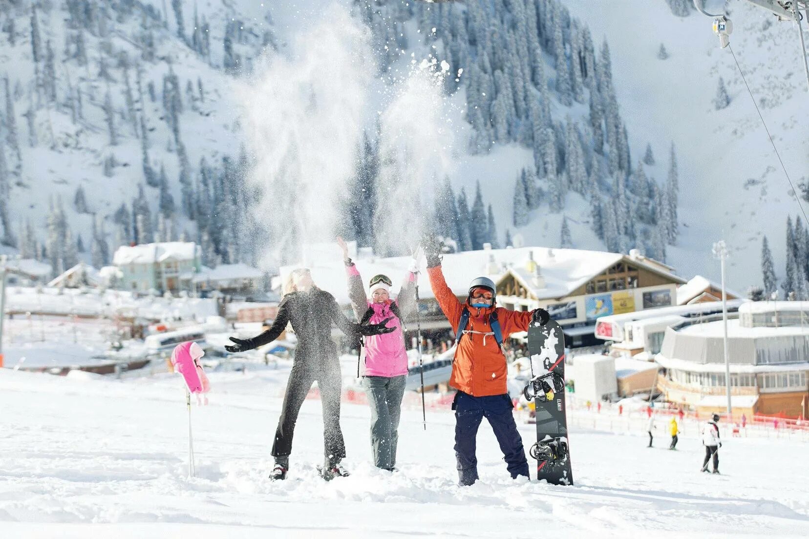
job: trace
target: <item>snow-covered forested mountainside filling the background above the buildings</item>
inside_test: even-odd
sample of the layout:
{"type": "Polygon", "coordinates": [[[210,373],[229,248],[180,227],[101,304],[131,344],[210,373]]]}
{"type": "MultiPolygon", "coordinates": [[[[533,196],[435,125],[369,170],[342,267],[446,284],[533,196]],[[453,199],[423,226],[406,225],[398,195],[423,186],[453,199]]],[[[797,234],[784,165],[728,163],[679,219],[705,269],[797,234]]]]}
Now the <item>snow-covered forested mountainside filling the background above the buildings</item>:
{"type": "MultiPolygon", "coordinates": [[[[453,236],[465,219],[470,246],[502,244],[506,230],[516,244],[637,246],[687,277],[718,277],[710,246],[725,238],[731,284],[760,284],[761,238],[780,276],[799,208],[710,19],[668,3],[0,0],[6,242],[66,264],[184,234],[208,263],[273,264],[336,232],[384,251],[423,221],[453,236]],[[434,219],[450,206],[458,219],[434,219]],[[637,226],[622,229],[622,215],[637,226]],[[363,238],[369,228],[382,239],[363,238]],[[78,236],[86,253],[60,246],[78,236]]],[[[807,90],[794,24],[729,5],[734,52],[798,183],[807,90]]]]}

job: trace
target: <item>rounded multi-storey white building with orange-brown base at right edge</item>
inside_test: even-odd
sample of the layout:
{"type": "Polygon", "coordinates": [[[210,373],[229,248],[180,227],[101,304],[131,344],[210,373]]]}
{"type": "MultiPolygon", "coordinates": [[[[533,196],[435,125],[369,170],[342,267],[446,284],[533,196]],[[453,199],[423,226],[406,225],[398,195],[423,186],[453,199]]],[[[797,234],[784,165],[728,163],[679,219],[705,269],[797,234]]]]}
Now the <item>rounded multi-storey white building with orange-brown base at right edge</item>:
{"type": "MultiPolygon", "coordinates": [[[[809,301],[748,301],[727,322],[734,415],[809,417],[809,301]]],[[[658,389],[701,413],[727,406],[721,318],[667,327],[658,389]]]]}

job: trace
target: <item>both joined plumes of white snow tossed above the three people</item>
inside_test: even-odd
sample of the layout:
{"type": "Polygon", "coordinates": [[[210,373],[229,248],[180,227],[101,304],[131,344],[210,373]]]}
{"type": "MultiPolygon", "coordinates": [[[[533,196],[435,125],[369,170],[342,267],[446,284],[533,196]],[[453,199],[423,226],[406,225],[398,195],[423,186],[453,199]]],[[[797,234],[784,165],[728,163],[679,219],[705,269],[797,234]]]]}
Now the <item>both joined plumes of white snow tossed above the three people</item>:
{"type": "Polygon", "coordinates": [[[434,184],[453,169],[442,91],[450,66],[409,55],[385,82],[375,78],[372,42],[359,19],[332,5],[241,90],[257,217],[269,229],[265,265],[301,262],[303,246],[341,233],[346,206],[360,204],[345,197],[366,130],[379,133],[377,254],[409,252],[430,221],[434,184]]]}

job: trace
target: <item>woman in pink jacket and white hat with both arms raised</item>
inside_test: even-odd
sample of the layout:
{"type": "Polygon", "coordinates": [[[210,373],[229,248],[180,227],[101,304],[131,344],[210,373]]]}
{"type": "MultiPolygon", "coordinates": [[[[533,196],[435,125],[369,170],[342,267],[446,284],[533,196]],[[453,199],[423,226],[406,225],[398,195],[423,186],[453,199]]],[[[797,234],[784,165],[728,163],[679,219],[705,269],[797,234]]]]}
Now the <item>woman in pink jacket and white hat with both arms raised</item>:
{"type": "Polygon", "coordinates": [[[348,277],[349,299],[360,325],[383,322],[390,318],[391,333],[366,337],[362,386],[371,406],[371,449],[374,465],[383,470],[395,470],[396,443],[398,441],[401,402],[407,383],[408,358],[404,351],[404,318],[416,308],[416,259],[410,265],[404,284],[396,300],[391,299],[392,281],[388,276],[374,276],[368,294],[362,284],[357,267],[349,259],[348,246],[337,238],[343,251],[345,272],[348,277]]]}

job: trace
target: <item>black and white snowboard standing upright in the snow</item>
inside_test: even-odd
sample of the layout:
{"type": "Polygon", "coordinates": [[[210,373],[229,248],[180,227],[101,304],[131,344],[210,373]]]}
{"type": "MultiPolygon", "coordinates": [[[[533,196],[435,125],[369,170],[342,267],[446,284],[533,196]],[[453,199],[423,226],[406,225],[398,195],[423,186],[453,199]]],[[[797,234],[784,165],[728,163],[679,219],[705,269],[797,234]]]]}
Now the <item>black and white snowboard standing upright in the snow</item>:
{"type": "Polygon", "coordinates": [[[536,478],[555,485],[573,485],[565,417],[565,335],[549,320],[528,327],[528,355],[532,379],[525,397],[536,406],[536,444],[529,453],[536,459],[536,478]]]}

